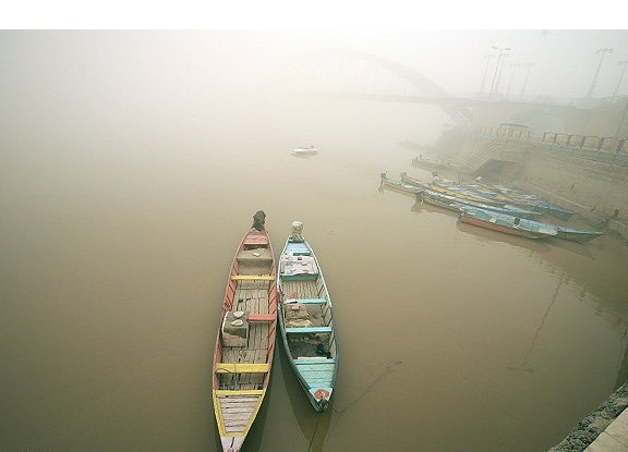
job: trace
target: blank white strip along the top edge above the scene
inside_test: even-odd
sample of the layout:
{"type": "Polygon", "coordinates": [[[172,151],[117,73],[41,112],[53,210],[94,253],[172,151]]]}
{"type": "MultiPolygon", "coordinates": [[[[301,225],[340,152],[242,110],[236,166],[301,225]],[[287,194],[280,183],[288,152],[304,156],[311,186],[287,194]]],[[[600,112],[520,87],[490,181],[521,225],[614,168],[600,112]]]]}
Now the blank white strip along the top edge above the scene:
{"type": "Polygon", "coordinates": [[[594,29],[626,26],[614,0],[23,0],[0,28],[125,29],[594,29]]]}

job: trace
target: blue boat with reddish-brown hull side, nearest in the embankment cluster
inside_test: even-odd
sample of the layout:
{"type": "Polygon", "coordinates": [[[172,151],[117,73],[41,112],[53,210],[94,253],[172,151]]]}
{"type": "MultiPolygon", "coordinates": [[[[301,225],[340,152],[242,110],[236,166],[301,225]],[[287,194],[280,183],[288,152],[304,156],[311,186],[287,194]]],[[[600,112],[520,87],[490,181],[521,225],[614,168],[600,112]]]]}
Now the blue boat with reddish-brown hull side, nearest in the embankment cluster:
{"type": "Polygon", "coordinates": [[[488,210],[464,208],[458,217],[460,221],[493,231],[504,232],[527,239],[542,239],[557,235],[556,229],[548,224],[519,217],[506,216],[488,210]]]}

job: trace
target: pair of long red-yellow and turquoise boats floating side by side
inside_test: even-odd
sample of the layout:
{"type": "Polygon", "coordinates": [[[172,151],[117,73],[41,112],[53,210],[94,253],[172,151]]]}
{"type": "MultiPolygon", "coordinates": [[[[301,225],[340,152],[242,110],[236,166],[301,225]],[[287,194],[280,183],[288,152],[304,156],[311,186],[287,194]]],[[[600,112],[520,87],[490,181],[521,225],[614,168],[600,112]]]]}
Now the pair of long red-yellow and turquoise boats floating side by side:
{"type": "Polygon", "coordinates": [[[214,352],[212,395],[225,452],[242,448],[262,403],[275,352],[277,325],[290,365],[307,400],[325,411],[338,371],[331,300],[321,266],[292,223],[279,262],[258,211],[229,272],[214,352]]]}

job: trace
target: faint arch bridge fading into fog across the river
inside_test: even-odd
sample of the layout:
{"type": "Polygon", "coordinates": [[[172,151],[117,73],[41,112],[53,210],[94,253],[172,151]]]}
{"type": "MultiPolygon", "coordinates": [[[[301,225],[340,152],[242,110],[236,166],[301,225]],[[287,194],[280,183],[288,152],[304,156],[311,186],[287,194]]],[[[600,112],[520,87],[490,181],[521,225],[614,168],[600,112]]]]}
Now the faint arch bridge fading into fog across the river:
{"type": "MultiPolygon", "coordinates": [[[[282,87],[292,94],[355,100],[427,103],[440,107],[458,125],[524,121],[536,132],[559,130],[573,121],[572,101],[488,101],[456,96],[419,71],[382,57],[328,49],[301,53],[282,71],[282,87]],[[538,129],[539,127],[539,129],[538,129]]],[[[582,109],[579,109],[582,113],[582,109]]]]}

